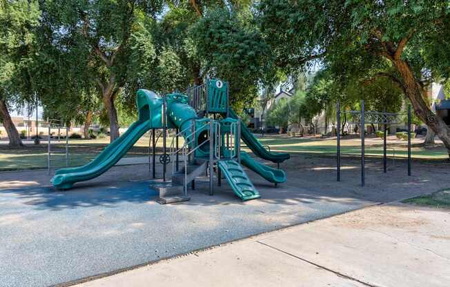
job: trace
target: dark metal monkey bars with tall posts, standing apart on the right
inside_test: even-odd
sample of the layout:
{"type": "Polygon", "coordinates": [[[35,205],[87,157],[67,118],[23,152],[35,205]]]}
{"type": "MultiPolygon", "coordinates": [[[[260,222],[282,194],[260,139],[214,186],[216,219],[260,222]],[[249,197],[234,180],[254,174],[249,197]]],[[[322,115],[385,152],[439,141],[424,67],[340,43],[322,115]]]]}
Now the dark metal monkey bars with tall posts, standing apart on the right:
{"type": "MultiPolygon", "coordinates": [[[[382,124],[383,125],[383,172],[387,173],[387,126],[392,124],[400,123],[399,117],[401,113],[398,112],[377,112],[377,111],[366,111],[364,106],[364,100],[361,101],[361,110],[347,110],[342,111],[340,108],[340,102],[336,104],[336,120],[337,120],[337,129],[336,129],[336,141],[337,141],[337,149],[336,149],[336,176],[337,181],[341,181],[341,145],[340,145],[340,128],[341,128],[341,114],[346,114],[351,117],[349,123],[356,123],[361,126],[361,186],[365,185],[365,128],[366,123],[373,124],[382,124]]],[[[408,134],[408,176],[411,176],[411,106],[408,106],[407,112],[408,122],[407,122],[407,134],[408,134]]],[[[393,157],[395,160],[395,150],[393,150],[393,157]]]]}

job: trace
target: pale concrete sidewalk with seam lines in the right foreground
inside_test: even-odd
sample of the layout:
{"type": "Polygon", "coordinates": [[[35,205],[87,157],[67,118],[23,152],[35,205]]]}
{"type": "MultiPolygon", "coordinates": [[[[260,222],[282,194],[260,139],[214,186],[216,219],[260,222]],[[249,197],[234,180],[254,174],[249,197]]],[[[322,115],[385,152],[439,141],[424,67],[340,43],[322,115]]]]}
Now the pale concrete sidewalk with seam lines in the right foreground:
{"type": "Polygon", "coordinates": [[[450,210],[364,208],[110,277],[99,286],[449,286],[450,210]]]}

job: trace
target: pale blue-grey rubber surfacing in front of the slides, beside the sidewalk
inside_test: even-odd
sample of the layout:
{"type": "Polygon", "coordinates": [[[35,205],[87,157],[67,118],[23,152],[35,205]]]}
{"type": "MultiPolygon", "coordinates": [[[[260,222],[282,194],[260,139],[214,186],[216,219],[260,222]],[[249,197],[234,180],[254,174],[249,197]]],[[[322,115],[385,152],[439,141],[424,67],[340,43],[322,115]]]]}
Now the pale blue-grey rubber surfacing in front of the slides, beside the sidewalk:
{"type": "Polygon", "coordinates": [[[0,190],[0,286],[61,284],[368,204],[302,202],[305,190],[271,186],[243,203],[225,184],[210,197],[208,182],[197,181],[190,201],[162,206],[148,184],[0,190]]]}

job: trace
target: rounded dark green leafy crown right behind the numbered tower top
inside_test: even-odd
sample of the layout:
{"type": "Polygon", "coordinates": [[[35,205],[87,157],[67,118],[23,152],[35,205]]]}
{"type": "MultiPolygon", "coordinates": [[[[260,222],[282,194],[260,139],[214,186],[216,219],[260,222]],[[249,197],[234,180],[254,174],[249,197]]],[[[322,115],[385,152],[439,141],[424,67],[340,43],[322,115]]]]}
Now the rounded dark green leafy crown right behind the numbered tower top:
{"type": "Polygon", "coordinates": [[[275,77],[271,51],[255,28],[251,15],[239,17],[228,9],[208,13],[193,27],[197,55],[210,77],[228,80],[231,103],[251,103],[259,81],[275,77]]]}

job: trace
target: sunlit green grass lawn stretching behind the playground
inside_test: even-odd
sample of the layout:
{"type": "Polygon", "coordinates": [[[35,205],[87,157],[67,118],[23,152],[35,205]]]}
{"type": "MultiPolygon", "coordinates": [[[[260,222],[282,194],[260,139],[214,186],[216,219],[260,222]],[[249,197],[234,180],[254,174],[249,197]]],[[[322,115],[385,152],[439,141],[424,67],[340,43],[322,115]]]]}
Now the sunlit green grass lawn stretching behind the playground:
{"type": "MultiPolygon", "coordinates": [[[[286,137],[285,135],[257,136],[264,146],[270,146],[271,151],[301,153],[316,156],[334,156],[336,153],[335,138],[308,138],[308,137],[286,137]]],[[[141,137],[131,148],[126,157],[143,157],[148,155],[148,135],[141,137]]],[[[167,145],[170,148],[172,137],[168,137],[167,145]]],[[[447,159],[447,150],[441,146],[434,148],[424,148],[422,139],[413,140],[412,157],[415,159],[447,159]]],[[[64,150],[64,141],[52,145],[52,150],[64,150]]],[[[109,143],[109,138],[104,139],[71,139],[69,141],[70,160],[69,166],[80,166],[88,163],[101,152],[109,143]]],[[[183,139],[179,138],[179,146],[182,146],[183,139]]],[[[342,155],[359,156],[360,139],[344,138],[341,140],[342,155]]],[[[387,155],[391,157],[395,149],[395,157],[407,157],[407,143],[393,137],[388,140],[387,155]]],[[[244,150],[248,149],[243,145],[244,150]]],[[[162,152],[162,138],[157,141],[157,152],[162,152]]],[[[382,139],[368,137],[366,139],[366,155],[368,157],[382,157],[382,139]]],[[[58,155],[61,161],[52,161],[52,166],[66,166],[63,155],[58,155]]],[[[5,144],[0,145],[0,171],[2,170],[24,170],[32,168],[47,167],[47,145],[42,141],[39,146],[27,145],[25,148],[9,148],[5,144]]]]}

